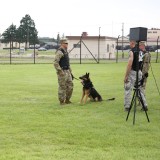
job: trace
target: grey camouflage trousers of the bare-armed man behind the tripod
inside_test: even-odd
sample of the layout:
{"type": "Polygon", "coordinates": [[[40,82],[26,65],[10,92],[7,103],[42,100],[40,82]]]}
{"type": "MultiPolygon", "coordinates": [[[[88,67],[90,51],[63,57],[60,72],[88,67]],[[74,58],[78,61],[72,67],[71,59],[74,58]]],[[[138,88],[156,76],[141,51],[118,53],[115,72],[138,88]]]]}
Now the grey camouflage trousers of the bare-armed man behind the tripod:
{"type": "MultiPolygon", "coordinates": [[[[124,107],[129,108],[131,104],[131,94],[133,87],[135,86],[136,83],[136,71],[131,70],[130,74],[128,76],[128,82],[124,84],[124,107]]],[[[138,72],[138,81],[142,79],[142,72],[138,72]]],[[[144,96],[144,90],[143,87],[139,87],[140,94],[144,103],[144,106],[147,106],[146,98],[144,96]]]]}

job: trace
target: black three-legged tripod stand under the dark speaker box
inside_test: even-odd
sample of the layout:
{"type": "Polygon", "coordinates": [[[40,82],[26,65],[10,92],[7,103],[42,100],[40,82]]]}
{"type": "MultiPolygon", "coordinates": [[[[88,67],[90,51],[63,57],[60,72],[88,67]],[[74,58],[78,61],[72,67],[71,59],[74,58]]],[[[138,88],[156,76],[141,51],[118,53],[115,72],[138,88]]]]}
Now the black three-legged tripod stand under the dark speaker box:
{"type": "Polygon", "coordinates": [[[137,98],[138,98],[139,102],[142,105],[142,110],[145,111],[145,114],[146,114],[148,122],[150,122],[148,114],[147,114],[147,107],[144,105],[143,98],[142,98],[142,93],[141,93],[141,90],[140,90],[141,85],[139,85],[139,82],[138,82],[138,74],[139,74],[139,41],[137,41],[135,56],[137,56],[136,57],[136,60],[137,60],[136,61],[136,83],[135,83],[135,86],[134,86],[134,89],[133,89],[134,93],[133,93],[131,104],[130,104],[130,107],[129,107],[129,110],[128,110],[128,114],[127,114],[127,117],[126,117],[126,121],[127,121],[128,117],[129,117],[129,114],[130,114],[130,111],[131,111],[131,109],[133,107],[133,104],[134,104],[133,124],[135,124],[135,115],[136,115],[136,107],[137,107],[137,100],[136,99],[137,98]]]}

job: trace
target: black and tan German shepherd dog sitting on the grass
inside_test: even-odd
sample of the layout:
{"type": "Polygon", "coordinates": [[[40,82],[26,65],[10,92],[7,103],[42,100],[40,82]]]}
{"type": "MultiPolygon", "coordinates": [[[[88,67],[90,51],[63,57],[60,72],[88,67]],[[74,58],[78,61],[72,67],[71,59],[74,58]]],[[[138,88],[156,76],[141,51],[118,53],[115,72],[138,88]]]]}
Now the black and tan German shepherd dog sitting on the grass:
{"type": "Polygon", "coordinates": [[[79,77],[79,79],[82,80],[81,83],[83,85],[82,98],[80,101],[81,104],[83,103],[83,99],[85,104],[88,97],[93,101],[102,101],[101,95],[96,91],[90,80],[89,73],[79,77]]]}

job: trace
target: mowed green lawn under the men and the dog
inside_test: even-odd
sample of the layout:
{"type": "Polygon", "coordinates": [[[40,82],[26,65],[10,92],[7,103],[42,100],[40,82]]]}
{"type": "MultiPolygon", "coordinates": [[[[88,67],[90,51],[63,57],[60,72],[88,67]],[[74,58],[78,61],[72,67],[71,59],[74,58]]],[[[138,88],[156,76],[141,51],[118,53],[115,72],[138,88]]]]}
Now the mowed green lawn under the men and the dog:
{"type": "Polygon", "coordinates": [[[62,107],[52,64],[0,65],[0,160],[159,160],[160,64],[147,84],[150,123],[137,106],[135,125],[123,108],[125,62],[71,66],[76,78],[90,72],[104,101],[80,105],[74,80],[73,103],[62,107]]]}

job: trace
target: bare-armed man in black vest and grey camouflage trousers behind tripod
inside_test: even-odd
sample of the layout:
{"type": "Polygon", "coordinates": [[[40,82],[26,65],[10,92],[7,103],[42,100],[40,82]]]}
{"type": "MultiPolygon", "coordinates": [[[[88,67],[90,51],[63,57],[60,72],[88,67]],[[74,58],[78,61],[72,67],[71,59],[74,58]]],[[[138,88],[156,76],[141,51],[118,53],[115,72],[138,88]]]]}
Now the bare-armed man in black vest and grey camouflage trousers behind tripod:
{"type": "MultiPolygon", "coordinates": [[[[133,87],[135,86],[136,82],[136,75],[137,75],[137,61],[138,61],[138,56],[137,56],[137,47],[136,47],[136,42],[134,40],[130,41],[130,47],[131,50],[129,52],[129,59],[128,59],[128,64],[125,72],[125,77],[124,77],[124,109],[125,111],[129,111],[130,105],[131,105],[131,92],[133,87]]],[[[140,61],[138,62],[140,63],[140,61]]],[[[139,65],[140,67],[140,65],[139,65]]],[[[138,81],[142,79],[142,72],[140,68],[138,68],[138,81]]],[[[142,87],[139,88],[142,100],[144,102],[144,109],[147,111],[147,103],[145,96],[142,92],[142,87]]]]}

